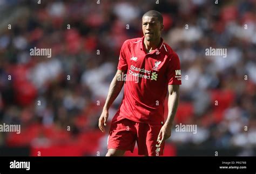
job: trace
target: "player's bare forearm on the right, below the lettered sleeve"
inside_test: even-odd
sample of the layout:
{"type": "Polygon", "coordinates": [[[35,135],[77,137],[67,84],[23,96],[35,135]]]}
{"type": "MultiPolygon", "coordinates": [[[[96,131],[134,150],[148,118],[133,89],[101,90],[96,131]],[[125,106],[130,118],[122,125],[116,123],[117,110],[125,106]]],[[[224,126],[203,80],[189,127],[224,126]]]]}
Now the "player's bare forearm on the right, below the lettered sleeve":
{"type": "Polygon", "coordinates": [[[168,126],[173,125],[173,120],[179,105],[179,92],[172,92],[168,97],[168,115],[165,124],[168,126]]]}

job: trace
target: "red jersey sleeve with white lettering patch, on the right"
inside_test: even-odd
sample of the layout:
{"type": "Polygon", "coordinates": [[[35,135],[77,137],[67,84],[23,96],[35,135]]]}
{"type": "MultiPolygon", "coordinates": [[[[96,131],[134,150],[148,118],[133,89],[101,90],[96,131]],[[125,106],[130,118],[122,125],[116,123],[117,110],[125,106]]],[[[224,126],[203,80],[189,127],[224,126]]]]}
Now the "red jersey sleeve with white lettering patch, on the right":
{"type": "Polygon", "coordinates": [[[170,57],[169,67],[167,69],[167,80],[169,85],[181,84],[180,61],[176,53],[173,53],[170,57]]]}

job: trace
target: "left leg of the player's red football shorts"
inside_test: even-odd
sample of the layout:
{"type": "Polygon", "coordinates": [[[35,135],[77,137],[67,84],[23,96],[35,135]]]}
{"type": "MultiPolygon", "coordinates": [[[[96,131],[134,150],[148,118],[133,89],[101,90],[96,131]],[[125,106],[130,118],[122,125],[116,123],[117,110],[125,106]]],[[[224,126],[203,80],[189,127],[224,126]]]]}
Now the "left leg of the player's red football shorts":
{"type": "Polygon", "coordinates": [[[117,115],[113,118],[107,149],[130,150],[133,152],[136,142],[135,122],[117,115]]]}

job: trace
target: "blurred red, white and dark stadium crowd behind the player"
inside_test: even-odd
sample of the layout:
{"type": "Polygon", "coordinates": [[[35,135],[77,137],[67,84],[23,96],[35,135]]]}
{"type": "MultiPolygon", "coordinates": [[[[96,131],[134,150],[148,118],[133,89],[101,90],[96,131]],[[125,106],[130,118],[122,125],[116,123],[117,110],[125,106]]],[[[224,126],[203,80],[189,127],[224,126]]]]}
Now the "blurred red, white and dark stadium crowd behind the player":
{"type": "Polygon", "coordinates": [[[215,2],[0,0],[0,124],[21,125],[0,132],[0,155],[104,156],[109,127],[100,132],[98,119],[120,47],[143,36],[154,9],[181,62],[175,124],[197,125],[197,134],[173,126],[165,156],[255,156],[256,1],[215,2]],[[31,56],[34,47],[51,57],[31,56]],[[227,57],[206,56],[210,47],[227,57]]]}

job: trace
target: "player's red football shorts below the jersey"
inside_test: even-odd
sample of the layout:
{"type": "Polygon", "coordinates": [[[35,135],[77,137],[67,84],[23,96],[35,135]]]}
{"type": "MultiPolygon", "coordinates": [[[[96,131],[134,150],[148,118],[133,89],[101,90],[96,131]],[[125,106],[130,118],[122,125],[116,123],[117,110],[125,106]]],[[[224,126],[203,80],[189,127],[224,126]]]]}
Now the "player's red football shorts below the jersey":
{"type": "Polygon", "coordinates": [[[137,141],[139,155],[163,155],[164,142],[161,146],[157,143],[162,126],[135,122],[116,114],[111,122],[107,149],[129,150],[133,153],[137,141]]]}

